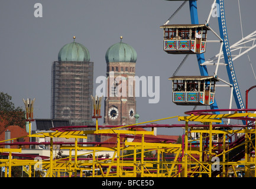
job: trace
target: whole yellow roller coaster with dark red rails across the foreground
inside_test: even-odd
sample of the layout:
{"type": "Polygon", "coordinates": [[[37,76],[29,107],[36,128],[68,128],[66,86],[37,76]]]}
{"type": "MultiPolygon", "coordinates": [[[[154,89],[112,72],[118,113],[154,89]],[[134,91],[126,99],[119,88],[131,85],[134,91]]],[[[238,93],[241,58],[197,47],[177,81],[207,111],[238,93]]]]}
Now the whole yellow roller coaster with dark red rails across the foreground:
{"type": "MultiPolygon", "coordinates": [[[[72,127],[53,128],[51,132],[28,135],[34,138],[50,138],[50,142],[41,143],[49,145],[48,157],[24,154],[24,149],[21,148],[0,148],[0,167],[4,177],[12,177],[11,170],[14,167],[22,168],[28,177],[239,177],[240,174],[244,174],[244,177],[255,177],[256,114],[249,113],[250,110],[252,109],[247,109],[247,113],[231,110],[233,113],[219,115],[190,112],[188,116],[164,118],[176,118],[185,122],[180,125],[164,125],[167,128],[184,128],[182,144],[158,140],[157,137],[154,138],[155,141],[147,142],[145,138],[154,135],[153,129],[136,129],[143,127],[142,124],[164,119],[105,129],[97,125],[91,131],[78,128],[74,130],[72,127]],[[247,119],[251,125],[219,124],[224,119],[247,119]],[[77,142],[78,139],[86,139],[88,135],[113,136],[116,142],[114,146],[103,143],[85,146],[77,142]],[[54,152],[56,138],[74,139],[73,144],[58,143],[58,150],[69,152],[67,157],[58,157],[57,152],[54,152]],[[129,138],[140,140],[134,142],[129,138]],[[127,151],[131,153],[125,153],[127,151]],[[99,158],[99,152],[111,152],[112,157],[99,158]],[[147,152],[153,152],[154,157],[145,157],[147,152]],[[89,154],[92,156],[88,157],[89,154]]],[[[160,125],[152,125],[152,128],[157,126],[160,125]]],[[[7,142],[0,141],[0,145],[12,145],[7,142]]],[[[32,144],[35,143],[31,142],[30,145],[32,144]]]]}

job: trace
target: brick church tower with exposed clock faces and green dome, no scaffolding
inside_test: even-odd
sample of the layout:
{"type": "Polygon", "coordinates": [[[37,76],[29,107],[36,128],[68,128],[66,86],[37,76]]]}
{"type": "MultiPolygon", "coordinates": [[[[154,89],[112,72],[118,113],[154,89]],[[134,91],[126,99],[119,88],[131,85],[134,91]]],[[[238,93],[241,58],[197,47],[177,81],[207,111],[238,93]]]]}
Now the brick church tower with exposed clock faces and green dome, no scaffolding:
{"type": "Polygon", "coordinates": [[[105,98],[105,125],[135,123],[135,65],[137,53],[126,43],[116,43],[106,51],[108,90],[105,98]]]}

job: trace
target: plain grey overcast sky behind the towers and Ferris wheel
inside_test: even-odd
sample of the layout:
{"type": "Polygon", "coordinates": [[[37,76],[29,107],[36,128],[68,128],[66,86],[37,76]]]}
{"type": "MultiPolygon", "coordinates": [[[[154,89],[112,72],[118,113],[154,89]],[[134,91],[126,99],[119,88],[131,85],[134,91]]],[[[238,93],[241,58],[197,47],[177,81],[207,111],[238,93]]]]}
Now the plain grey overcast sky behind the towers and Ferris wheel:
{"type": "MultiPolygon", "coordinates": [[[[183,1],[164,0],[24,0],[0,2],[0,91],[12,96],[15,106],[24,107],[22,99],[35,98],[34,118],[50,119],[51,113],[51,64],[57,61],[59,50],[76,42],[85,45],[94,62],[93,90],[99,86],[95,80],[106,76],[105,54],[112,44],[122,42],[137,51],[136,73],[138,77],[160,77],[160,100],[148,103],[149,96],[137,97],[139,122],[183,116],[193,106],[177,106],[171,102],[171,77],[184,55],[167,54],[163,51],[164,22],[183,1]],[[41,3],[42,17],[35,17],[41,3]]],[[[205,24],[213,1],[198,0],[199,23],[205,24]]],[[[229,44],[241,40],[256,30],[256,5],[254,0],[225,0],[225,15],[229,44]],[[238,2],[241,8],[242,30],[238,2]]],[[[169,24],[190,24],[189,4],[170,20],[169,24]]],[[[210,17],[210,27],[219,34],[218,19],[210,17]]],[[[208,32],[208,40],[218,40],[208,32]]],[[[219,43],[208,43],[205,58],[219,53],[219,43]]],[[[252,68],[256,71],[256,48],[234,61],[236,78],[245,102],[245,90],[256,84],[252,68]],[[248,56],[251,61],[249,61],[248,56]]],[[[209,75],[215,67],[208,66],[209,75]]],[[[195,55],[190,55],[177,75],[199,76],[195,55]]],[[[228,81],[225,66],[219,67],[218,76],[228,81]]],[[[256,90],[249,93],[249,108],[256,108],[256,90]]],[[[218,87],[216,100],[219,109],[229,106],[230,89],[218,87]]],[[[234,102],[234,100],[233,100],[234,102]]],[[[102,103],[103,106],[103,103],[102,103]]],[[[232,108],[236,108],[235,103],[232,108]]],[[[197,109],[209,109],[207,106],[197,109]]],[[[103,107],[102,107],[103,110],[103,107]]],[[[103,119],[99,120],[99,124],[103,119]]],[[[176,119],[157,122],[160,124],[184,123],[176,119]]],[[[158,129],[158,134],[181,135],[182,129],[158,129]]]]}

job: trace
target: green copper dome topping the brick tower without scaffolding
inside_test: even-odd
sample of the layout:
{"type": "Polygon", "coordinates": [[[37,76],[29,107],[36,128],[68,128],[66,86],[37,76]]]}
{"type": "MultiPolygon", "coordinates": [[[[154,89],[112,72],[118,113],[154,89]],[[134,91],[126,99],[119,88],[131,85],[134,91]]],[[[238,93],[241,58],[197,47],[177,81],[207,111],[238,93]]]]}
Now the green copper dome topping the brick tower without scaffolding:
{"type": "Polygon", "coordinates": [[[106,51],[106,62],[107,63],[117,63],[117,62],[129,62],[136,63],[137,53],[133,47],[126,43],[121,42],[116,43],[108,48],[106,51]]]}

